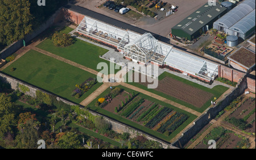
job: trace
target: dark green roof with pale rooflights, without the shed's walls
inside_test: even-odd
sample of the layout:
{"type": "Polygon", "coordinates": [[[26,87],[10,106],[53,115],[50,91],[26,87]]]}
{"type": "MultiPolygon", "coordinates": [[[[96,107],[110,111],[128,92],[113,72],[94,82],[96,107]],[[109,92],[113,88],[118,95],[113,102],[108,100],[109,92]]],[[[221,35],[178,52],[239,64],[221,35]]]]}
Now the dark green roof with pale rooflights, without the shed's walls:
{"type": "Polygon", "coordinates": [[[177,23],[172,29],[183,30],[192,35],[224,11],[226,11],[226,7],[221,6],[219,3],[216,3],[216,6],[209,6],[208,3],[205,3],[204,6],[183,19],[180,23],[177,23]]]}

